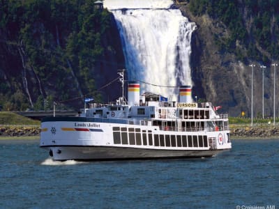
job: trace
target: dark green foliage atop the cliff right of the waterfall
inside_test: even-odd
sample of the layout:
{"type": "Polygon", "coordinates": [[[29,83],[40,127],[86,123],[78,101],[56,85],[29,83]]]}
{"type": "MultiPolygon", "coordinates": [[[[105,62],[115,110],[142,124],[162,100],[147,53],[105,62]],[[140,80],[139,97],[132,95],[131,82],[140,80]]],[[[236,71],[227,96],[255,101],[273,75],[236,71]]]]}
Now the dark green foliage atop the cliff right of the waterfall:
{"type": "MultiPolygon", "coordinates": [[[[279,1],[190,0],[189,7],[194,15],[208,14],[227,26],[229,38],[215,39],[221,52],[235,52],[238,40],[248,48],[250,59],[266,61],[266,58],[262,59],[257,44],[269,52],[272,59],[279,59],[279,1]]],[[[243,60],[240,51],[236,56],[243,60]]]]}

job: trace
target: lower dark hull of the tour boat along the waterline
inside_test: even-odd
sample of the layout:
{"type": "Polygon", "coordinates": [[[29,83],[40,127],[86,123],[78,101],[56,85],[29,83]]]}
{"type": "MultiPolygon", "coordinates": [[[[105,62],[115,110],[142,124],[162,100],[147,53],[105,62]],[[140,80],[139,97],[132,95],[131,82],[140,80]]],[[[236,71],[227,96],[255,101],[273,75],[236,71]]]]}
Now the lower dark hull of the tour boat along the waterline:
{"type": "Polygon", "coordinates": [[[55,146],[50,150],[53,160],[129,160],[154,158],[212,157],[223,150],[153,150],[105,146],[55,146]]]}

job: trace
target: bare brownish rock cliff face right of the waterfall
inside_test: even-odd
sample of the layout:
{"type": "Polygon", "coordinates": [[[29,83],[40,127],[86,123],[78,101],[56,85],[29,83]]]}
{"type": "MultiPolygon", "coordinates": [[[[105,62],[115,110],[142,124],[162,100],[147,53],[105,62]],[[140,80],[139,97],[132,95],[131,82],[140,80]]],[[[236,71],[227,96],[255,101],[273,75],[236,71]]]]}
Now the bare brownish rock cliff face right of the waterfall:
{"type": "MultiPolygon", "coordinates": [[[[267,26],[273,38],[269,40],[269,45],[266,45],[257,37],[259,34],[257,26],[264,21],[259,18],[261,17],[260,11],[250,10],[248,5],[241,0],[234,1],[234,6],[241,18],[239,22],[241,22],[240,28],[242,29],[241,32],[236,33],[232,29],[234,25],[228,26],[224,23],[223,17],[227,15],[227,7],[223,8],[219,17],[212,15],[210,10],[205,11],[210,4],[203,8],[202,12],[194,14],[193,8],[191,8],[193,2],[178,4],[183,15],[197,24],[197,31],[193,34],[192,41],[191,66],[195,83],[193,95],[213,102],[214,105],[222,106],[220,112],[228,112],[230,116],[241,116],[241,112],[244,111],[246,116],[250,117],[252,69],[249,65],[253,63],[255,64],[253,75],[254,116],[260,117],[262,116],[263,96],[263,68],[260,68],[260,65],[266,65],[264,68],[264,115],[273,116],[274,70],[273,67],[271,68],[271,63],[276,62],[278,54],[269,45],[278,46],[278,37],[272,35],[278,31],[278,26],[274,25],[276,15],[272,15],[270,12],[270,22],[267,26]],[[256,14],[258,18],[255,17],[256,14]]],[[[259,7],[260,3],[255,3],[254,8],[259,7]]],[[[228,14],[232,14],[232,11],[229,11],[228,14]]],[[[276,84],[276,89],[278,91],[278,84],[276,84]]],[[[277,105],[278,100],[276,100],[276,107],[277,105]]],[[[278,109],[276,109],[276,115],[277,111],[278,109]]]]}

